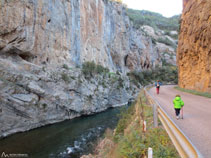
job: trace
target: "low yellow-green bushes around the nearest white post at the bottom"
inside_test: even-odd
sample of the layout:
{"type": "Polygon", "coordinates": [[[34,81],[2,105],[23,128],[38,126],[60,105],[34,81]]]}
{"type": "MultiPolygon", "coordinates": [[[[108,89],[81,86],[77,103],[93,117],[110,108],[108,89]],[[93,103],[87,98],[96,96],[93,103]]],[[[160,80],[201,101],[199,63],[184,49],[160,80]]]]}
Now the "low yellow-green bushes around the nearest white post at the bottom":
{"type": "Polygon", "coordinates": [[[130,135],[123,137],[119,143],[120,154],[124,158],[144,157],[147,155],[148,147],[153,148],[153,157],[179,158],[169,137],[161,128],[152,128],[145,135],[134,130],[130,135]]]}

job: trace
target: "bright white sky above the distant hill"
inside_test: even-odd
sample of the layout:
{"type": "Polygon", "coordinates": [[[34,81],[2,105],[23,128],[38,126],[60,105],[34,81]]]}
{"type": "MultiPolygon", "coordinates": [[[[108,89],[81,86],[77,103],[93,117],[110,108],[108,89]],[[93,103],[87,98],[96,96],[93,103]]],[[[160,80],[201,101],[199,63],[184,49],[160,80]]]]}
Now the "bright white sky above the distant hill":
{"type": "Polygon", "coordinates": [[[149,10],[172,17],[182,13],[182,0],[122,0],[128,8],[149,10]]]}

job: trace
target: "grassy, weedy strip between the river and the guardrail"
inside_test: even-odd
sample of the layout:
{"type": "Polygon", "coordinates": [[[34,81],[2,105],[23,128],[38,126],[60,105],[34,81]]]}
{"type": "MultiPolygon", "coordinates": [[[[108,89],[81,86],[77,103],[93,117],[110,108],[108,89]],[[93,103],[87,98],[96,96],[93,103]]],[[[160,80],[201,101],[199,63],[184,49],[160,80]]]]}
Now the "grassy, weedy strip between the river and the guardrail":
{"type": "Polygon", "coordinates": [[[116,129],[107,130],[94,155],[82,158],[144,158],[148,148],[153,149],[154,158],[179,158],[166,131],[161,124],[153,127],[152,107],[146,104],[141,92],[137,101],[122,112],[116,129]],[[147,131],[143,132],[143,121],[147,123],[147,131]]]}

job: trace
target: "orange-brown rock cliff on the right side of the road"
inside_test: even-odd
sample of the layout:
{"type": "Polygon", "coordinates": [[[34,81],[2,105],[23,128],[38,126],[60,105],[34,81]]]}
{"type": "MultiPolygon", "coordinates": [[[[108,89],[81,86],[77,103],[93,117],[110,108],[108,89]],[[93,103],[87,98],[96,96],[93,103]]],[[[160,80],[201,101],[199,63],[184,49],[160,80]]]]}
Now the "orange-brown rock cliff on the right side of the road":
{"type": "Polygon", "coordinates": [[[177,61],[179,86],[211,92],[211,1],[184,0],[177,61]]]}

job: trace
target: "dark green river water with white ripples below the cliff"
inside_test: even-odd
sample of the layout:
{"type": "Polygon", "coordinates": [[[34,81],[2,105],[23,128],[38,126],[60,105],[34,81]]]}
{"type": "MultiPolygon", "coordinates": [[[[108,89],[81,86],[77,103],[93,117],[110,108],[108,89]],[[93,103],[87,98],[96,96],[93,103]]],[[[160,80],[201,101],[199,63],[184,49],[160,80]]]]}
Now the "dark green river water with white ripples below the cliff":
{"type": "Polygon", "coordinates": [[[93,151],[107,128],[116,127],[121,109],[111,108],[1,139],[0,157],[4,152],[28,154],[29,158],[79,158],[93,151]]]}

